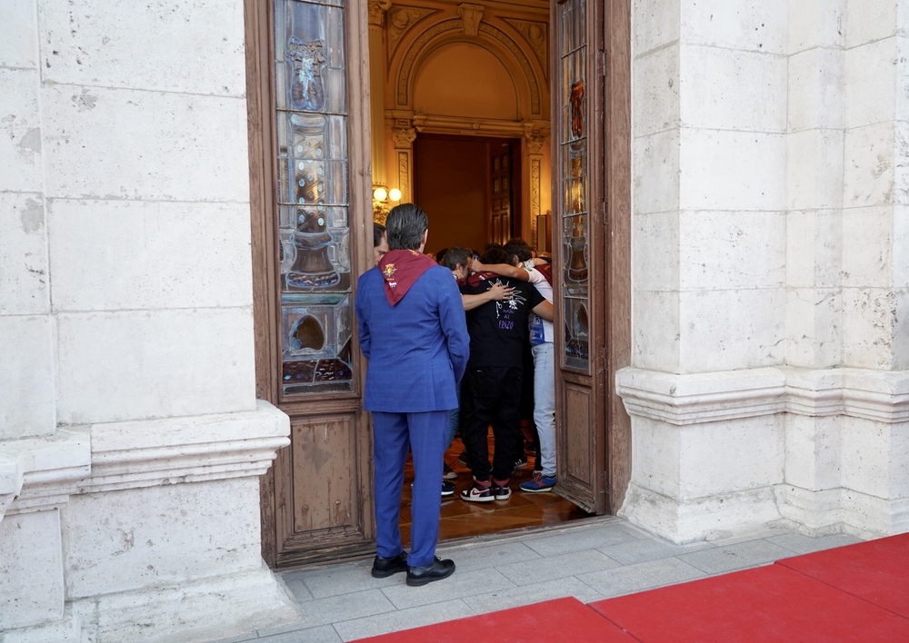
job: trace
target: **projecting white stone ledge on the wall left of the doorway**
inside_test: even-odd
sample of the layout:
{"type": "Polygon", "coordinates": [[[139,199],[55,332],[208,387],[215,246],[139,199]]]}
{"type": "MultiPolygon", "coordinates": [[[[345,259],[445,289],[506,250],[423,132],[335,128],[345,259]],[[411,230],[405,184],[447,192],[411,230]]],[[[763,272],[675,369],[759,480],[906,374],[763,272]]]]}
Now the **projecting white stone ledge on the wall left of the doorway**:
{"type": "Polygon", "coordinates": [[[0,441],[0,519],[62,505],[74,493],[135,489],[265,473],[290,443],[290,420],[255,411],[109,422],[0,441]]]}

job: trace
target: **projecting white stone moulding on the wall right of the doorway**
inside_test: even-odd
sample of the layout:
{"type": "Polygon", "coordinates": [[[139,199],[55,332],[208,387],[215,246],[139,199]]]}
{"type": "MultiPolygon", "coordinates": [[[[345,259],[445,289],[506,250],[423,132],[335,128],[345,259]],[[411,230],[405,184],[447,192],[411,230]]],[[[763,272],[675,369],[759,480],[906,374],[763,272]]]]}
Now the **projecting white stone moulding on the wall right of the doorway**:
{"type": "Polygon", "coordinates": [[[794,367],[676,375],[628,368],[616,374],[625,410],[687,424],[774,413],[909,420],[909,371],[794,367]]]}

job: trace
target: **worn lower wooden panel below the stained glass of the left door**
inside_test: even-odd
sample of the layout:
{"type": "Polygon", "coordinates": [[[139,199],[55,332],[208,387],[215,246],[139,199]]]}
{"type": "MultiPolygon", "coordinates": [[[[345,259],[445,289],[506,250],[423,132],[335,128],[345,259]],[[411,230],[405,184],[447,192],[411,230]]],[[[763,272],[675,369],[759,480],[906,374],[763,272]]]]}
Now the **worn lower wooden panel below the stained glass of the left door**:
{"type": "Polygon", "coordinates": [[[292,423],[295,531],[346,530],[359,522],[352,424],[344,417],[292,423]]]}

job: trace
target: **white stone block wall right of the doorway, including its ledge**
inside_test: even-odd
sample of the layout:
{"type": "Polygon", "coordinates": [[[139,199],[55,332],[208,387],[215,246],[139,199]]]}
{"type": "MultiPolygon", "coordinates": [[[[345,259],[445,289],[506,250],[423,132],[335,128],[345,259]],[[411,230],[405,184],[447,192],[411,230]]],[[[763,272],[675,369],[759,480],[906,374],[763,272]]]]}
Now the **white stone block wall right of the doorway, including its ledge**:
{"type": "Polygon", "coordinates": [[[909,529],[907,20],[897,0],[634,2],[618,388],[644,527],[909,529]]]}

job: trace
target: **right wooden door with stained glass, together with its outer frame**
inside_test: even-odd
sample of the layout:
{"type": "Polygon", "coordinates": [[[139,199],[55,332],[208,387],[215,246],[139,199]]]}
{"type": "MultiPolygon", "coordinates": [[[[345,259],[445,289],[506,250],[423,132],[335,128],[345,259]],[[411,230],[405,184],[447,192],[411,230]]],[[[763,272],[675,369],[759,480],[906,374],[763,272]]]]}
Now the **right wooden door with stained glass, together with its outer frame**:
{"type": "Polygon", "coordinates": [[[597,514],[631,474],[629,25],[628,0],[553,3],[555,489],[597,514]]]}

